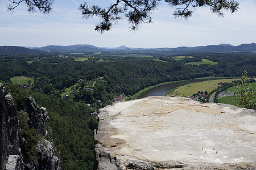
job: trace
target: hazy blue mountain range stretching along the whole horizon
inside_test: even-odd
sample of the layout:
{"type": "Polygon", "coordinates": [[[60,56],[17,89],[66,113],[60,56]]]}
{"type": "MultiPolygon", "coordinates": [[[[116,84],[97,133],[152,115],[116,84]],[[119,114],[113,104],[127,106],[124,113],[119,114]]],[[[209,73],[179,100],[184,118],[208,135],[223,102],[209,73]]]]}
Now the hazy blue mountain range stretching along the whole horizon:
{"type": "Polygon", "coordinates": [[[185,54],[185,53],[222,53],[222,52],[256,52],[256,44],[241,44],[233,46],[230,44],[207,45],[187,47],[180,46],[177,48],[129,48],[119,46],[118,48],[100,48],[97,46],[84,45],[48,45],[40,48],[21,47],[21,46],[0,46],[0,56],[11,54],[39,54],[39,53],[85,53],[85,52],[103,52],[103,51],[130,51],[138,53],[159,53],[165,55],[185,54]]]}

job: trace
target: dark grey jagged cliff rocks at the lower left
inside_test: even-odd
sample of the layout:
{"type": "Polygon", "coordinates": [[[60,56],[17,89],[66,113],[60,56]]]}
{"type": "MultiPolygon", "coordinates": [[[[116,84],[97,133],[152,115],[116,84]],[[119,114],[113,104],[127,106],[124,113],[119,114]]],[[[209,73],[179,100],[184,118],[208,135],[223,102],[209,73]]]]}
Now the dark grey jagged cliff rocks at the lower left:
{"type": "MultiPolygon", "coordinates": [[[[30,120],[28,125],[44,135],[44,126],[49,120],[46,108],[38,108],[35,100],[28,97],[24,109],[30,120]]],[[[42,139],[38,143],[38,163],[23,159],[20,151],[20,128],[14,100],[6,94],[0,83],[0,168],[1,169],[60,169],[60,160],[55,156],[52,144],[42,139]]]]}

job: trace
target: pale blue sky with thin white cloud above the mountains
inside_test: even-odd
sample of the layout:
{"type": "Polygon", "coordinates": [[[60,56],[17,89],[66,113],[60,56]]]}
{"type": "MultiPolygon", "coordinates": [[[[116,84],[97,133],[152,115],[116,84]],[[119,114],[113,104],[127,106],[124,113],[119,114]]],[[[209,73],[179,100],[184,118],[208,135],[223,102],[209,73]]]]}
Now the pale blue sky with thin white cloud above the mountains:
{"type": "MultiPolygon", "coordinates": [[[[53,10],[44,15],[32,14],[20,5],[13,14],[7,12],[8,0],[0,0],[0,46],[31,46],[90,44],[115,48],[175,48],[213,44],[249,44],[256,42],[256,1],[237,0],[240,9],[225,12],[218,18],[209,7],[197,8],[188,20],[175,19],[175,8],[167,3],[152,12],[153,23],[143,23],[136,32],[129,31],[126,19],[103,34],[94,31],[98,18],[85,20],[78,10],[86,0],[55,0],[53,10]]],[[[89,0],[89,5],[109,6],[113,0],[89,0]]]]}

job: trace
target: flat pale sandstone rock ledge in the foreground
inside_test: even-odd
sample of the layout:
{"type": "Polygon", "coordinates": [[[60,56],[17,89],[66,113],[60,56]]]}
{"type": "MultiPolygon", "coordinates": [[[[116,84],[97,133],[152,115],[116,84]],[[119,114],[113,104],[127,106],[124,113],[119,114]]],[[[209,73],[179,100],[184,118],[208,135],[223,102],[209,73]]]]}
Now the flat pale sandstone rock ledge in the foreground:
{"type": "MultiPolygon", "coordinates": [[[[108,153],[111,169],[256,167],[250,109],[154,96],[108,105],[98,117],[96,152],[108,153]]],[[[106,160],[97,159],[99,169],[107,169],[106,160]]]]}

